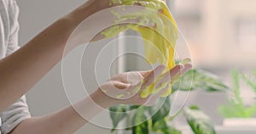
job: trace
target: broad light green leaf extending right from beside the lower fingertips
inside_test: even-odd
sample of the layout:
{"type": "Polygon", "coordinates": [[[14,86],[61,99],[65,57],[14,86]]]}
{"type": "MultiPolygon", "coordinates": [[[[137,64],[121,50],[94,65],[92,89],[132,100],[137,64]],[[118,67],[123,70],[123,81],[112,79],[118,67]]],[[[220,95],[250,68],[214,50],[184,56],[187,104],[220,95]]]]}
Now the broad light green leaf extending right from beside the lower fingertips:
{"type": "Polygon", "coordinates": [[[189,70],[172,86],[172,91],[190,91],[201,89],[208,92],[226,91],[229,89],[224,82],[205,70],[189,70]]]}

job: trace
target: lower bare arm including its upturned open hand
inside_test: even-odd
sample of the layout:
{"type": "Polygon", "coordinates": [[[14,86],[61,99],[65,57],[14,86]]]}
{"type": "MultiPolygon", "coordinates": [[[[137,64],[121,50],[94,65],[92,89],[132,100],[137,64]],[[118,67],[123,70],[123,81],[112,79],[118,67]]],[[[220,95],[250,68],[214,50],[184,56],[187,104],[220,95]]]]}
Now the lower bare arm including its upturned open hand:
{"type": "Polygon", "coordinates": [[[191,64],[186,64],[184,68],[177,65],[169,72],[166,72],[164,76],[160,76],[164,70],[162,66],[146,72],[129,72],[116,75],[111,81],[99,87],[96,92],[90,94],[90,97],[84,98],[79,103],[75,103],[73,106],[69,106],[67,109],[62,109],[54,114],[24,120],[11,134],[71,134],[79,130],[81,126],[84,126],[88,120],[102,112],[103,109],[108,109],[108,107],[115,104],[126,103],[151,106],[166,91],[168,86],[161,88],[160,92],[148,98],[141,98],[141,92],[145,87],[151,85],[156,80],[155,78],[160,76],[162,79],[155,82],[155,88],[157,89],[157,85],[160,86],[162,83],[171,82],[172,77],[179,72],[185,73],[190,68],[191,64]],[[132,78],[137,79],[137,82],[129,84],[127,75],[131,75],[132,78]],[[141,85],[141,81],[145,82],[141,85]],[[115,92],[112,92],[114,89],[131,92],[138,85],[140,90],[135,94],[131,93],[127,99],[112,98],[112,96],[115,96],[115,92]],[[107,92],[102,92],[103,89],[107,92]]]}

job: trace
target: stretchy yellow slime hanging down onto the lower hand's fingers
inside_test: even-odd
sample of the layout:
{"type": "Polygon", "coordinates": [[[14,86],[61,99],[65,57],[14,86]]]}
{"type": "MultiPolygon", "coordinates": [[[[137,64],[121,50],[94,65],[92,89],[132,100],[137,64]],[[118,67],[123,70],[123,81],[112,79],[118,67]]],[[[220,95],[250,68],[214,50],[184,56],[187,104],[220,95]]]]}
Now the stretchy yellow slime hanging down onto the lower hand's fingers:
{"type": "MultiPolygon", "coordinates": [[[[138,24],[113,25],[102,31],[105,37],[113,37],[121,31],[132,30],[141,34],[144,40],[145,57],[149,64],[166,64],[166,70],[172,69],[174,64],[174,47],[177,42],[177,25],[172,14],[167,8],[165,1],[161,0],[111,0],[110,5],[138,5],[145,7],[144,10],[131,14],[120,15],[113,11],[117,17],[116,22],[124,20],[138,20],[138,24]],[[142,26],[151,25],[151,26],[142,26]]],[[[158,80],[157,80],[158,81],[158,80]]],[[[172,92],[172,84],[164,84],[169,89],[162,94],[166,97],[172,92]]],[[[157,92],[159,89],[157,89],[157,92]]],[[[141,93],[142,98],[156,93],[154,83],[141,93]]]]}

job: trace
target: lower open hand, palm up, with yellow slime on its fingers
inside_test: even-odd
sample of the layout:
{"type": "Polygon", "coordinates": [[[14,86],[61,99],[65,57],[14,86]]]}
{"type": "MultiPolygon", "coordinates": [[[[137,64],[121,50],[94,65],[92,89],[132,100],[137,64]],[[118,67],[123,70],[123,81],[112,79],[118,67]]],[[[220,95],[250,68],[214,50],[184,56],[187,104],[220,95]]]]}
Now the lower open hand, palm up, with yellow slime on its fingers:
{"type": "MultiPolygon", "coordinates": [[[[191,64],[178,64],[172,70],[166,71],[163,74],[165,66],[160,65],[154,70],[134,71],[114,75],[110,81],[103,84],[96,91],[98,93],[97,99],[104,99],[103,107],[110,107],[116,104],[151,106],[160,98],[163,92],[166,92],[169,84],[177,80],[175,76],[183,75],[191,68],[191,64]],[[143,98],[143,91],[153,83],[154,90],[158,90],[158,92],[154,92],[148,95],[148,97],[143,98]],[[161,85],[163,83],[168,84],[166,84],[166,87],[162,87],[161,85]]],[[[98,104],[101,105],[101,103],[98,104]]]]}

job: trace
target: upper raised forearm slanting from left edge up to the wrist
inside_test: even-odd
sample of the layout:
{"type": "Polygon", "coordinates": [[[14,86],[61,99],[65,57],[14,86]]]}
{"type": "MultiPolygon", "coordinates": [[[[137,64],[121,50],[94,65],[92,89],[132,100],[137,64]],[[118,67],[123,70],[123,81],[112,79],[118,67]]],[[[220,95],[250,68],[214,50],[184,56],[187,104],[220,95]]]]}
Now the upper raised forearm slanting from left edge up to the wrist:
{"type": "Polygon", "coordinates": [[[15,103],[61,60],[74,28],[93,12],[87,4],[55,21],[24,47],[0,60],[0,111],[15,103]]]}

